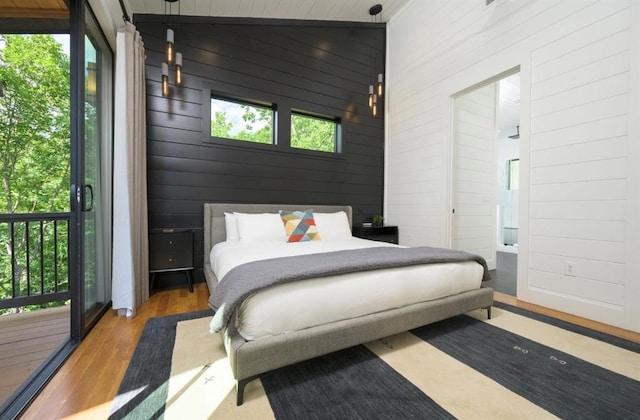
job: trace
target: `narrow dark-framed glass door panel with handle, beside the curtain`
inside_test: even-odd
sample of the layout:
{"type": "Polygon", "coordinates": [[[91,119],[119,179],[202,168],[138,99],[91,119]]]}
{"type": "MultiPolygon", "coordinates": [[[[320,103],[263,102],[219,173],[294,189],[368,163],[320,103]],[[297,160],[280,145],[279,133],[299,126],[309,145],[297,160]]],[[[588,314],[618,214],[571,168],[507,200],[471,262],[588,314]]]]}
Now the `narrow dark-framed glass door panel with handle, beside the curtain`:
{"type": "Polygon", "coordinates": [[[90,10],[85,11],[84,136],[79,149],[78,217],[82,231],[82,336],[111,296],[112,54],[90,10]]]}

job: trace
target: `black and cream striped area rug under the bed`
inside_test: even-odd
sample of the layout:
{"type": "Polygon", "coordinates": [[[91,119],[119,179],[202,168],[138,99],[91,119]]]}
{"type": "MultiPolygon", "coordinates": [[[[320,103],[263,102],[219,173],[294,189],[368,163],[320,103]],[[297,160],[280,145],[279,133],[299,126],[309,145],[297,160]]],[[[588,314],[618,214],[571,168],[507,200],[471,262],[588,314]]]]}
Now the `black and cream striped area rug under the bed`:
{"type": "Polygon", "coordinates": [[[640,419],[640,345],[497,305],[270,372],[240,407],[210,316],[154,319],[112,418],[640,419]]]}

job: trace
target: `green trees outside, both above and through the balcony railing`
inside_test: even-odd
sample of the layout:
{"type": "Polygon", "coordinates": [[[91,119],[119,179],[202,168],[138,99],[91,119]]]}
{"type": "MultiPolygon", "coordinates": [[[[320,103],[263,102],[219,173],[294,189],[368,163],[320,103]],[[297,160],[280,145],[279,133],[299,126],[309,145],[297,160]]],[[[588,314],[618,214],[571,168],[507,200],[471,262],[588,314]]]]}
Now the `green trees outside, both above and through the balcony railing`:
{"type": "MultiPolygon", "coordinates": [[[[0,98],[0,213],[69,211],[69,72],[69,57],[51,35],[0,35],[5,93],[0,98]]],[[[66,277],[67,227],[59,228],[54,237],[53,223],[45,223],[42,232],[41,237],[34,224],[14,224],[12,244],[10,227],[0,225],[0,298],[11,296],[14,288],[18,296],[52,291],[56,255],[63,267],[59,275],[66,277]],[[29,262],[27,248],[32,250],[29,262]],[[33,251],[39,249],[42,261],[40,252],[33,251]],[[41,275],[44,285],[34,281],[41,275]]],[[[65,287],[58,285],[58,290],[65,287]]]]}

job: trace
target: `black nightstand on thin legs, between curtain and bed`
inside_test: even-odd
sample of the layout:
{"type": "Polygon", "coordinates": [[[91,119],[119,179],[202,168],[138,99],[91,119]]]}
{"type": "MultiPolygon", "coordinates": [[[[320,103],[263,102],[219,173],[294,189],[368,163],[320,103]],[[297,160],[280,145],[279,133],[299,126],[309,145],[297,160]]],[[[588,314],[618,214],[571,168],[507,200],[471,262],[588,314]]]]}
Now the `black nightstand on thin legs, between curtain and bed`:
{"type": "Polygon", "coordinates": [[[193,292],[193,231],[158,229],[149,233],[149,273],[151,288],[158,273],[184,272],[189,291],[193,292]]]}

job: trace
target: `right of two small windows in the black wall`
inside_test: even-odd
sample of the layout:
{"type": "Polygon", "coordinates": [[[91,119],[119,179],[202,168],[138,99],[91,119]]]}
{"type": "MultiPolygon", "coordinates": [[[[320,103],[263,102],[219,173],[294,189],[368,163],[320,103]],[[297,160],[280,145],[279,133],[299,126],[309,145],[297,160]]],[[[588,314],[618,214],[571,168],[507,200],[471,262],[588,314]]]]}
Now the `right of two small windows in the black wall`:
{"type": "Polygon", "coordinates": [[[291,113],[291,147],[336,153],[338,129],[335,120],[291,113]]]}

